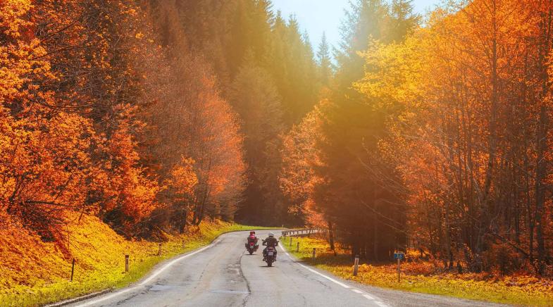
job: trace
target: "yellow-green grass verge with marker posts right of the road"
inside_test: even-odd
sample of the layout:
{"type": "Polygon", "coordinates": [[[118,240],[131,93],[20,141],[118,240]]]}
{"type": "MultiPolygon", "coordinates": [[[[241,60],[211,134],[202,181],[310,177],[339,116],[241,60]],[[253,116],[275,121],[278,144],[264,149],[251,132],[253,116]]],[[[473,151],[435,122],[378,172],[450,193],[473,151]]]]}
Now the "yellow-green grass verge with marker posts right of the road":
{"type": "Polygon", "coordinates": [[[475,299],[519,306],[553,306],[553,281],[528,275],[497,277],[490,274],[430,274],[432,263],[407,262],[402,265],[402,281],[397,282],[397,265],[393,263],[371,265],[361,261],[359,273],[352,276],[353,261],[345,251],[334,256],[323,238],[282,237],[282,246],[296,258],[327,270],[346,280],[353,280],[377,287],[409,292],[439,294],[462,299],[475,299]],[[296,251],[297,242],[300,249],[296,251]],[[316,259],[313,260],[313,248],[316,259]]]}

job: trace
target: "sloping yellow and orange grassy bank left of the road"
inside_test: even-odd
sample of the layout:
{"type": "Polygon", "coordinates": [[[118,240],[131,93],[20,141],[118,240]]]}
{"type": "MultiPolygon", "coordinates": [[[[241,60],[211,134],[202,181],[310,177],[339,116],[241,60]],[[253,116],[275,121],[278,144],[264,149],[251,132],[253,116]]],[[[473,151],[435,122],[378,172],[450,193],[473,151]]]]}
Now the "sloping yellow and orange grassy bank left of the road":
{"type": "Polygon", "coordinates": [[[93,216],[68,227],[68,241],[54,244],[17,231],[0,231],[0,306],[40,306],[76,296],[122,288],[139,280],[157,263],[205,246],[225,232],[268,229],[223,223],[201,223],[187,234],[168,235],[159,244],[127,240],[93,216]],[[185,242],[185,246],[182,246],[185,242]],[[125,272],[125,254],[130,270],[125,272]],[[75,258],[73,282],[71,261],[75,258]]]}

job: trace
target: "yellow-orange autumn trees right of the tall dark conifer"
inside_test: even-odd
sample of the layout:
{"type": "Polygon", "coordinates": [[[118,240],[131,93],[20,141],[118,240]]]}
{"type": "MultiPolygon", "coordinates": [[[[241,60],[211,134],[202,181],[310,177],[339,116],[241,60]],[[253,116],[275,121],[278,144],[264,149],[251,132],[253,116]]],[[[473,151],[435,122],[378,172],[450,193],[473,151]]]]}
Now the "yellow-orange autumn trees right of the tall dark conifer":
{"type": "Polygon", "coordinates": [[[484,0],[438,10],[404,43],[364,54],[356,88],[388,115],[380,151],[402,174],[412,242],[446,268],[461,258],[489,270],[506,251],[503,272],[542,273],[550,261],[537,235],[549,92],[538,81],[547,79],[538,7],[484,0]]]}

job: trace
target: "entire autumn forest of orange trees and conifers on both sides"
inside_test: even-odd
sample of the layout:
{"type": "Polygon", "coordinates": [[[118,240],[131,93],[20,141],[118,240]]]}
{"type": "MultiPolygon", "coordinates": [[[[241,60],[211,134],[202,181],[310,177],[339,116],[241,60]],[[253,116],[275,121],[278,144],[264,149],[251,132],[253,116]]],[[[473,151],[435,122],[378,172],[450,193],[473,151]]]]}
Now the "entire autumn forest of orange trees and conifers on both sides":
{"type": "Polygon", "coordinates": [[[0,1],[0,227],[323,227],[553,276],[553,3],[353,0],[340,46],[270,0],[0,1]]]}

